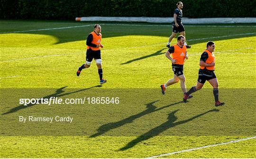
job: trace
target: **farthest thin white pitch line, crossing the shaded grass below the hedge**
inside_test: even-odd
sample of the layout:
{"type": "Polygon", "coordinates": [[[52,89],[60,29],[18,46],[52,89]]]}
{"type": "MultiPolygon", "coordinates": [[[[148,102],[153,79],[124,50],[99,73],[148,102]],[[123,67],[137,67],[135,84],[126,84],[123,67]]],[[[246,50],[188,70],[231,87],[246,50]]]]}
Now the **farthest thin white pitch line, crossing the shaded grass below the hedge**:
{"type": "MultiPolygon", "coordinates": [[[[93,24],[94,25],[94,24],[93,24]]],[[[55,29],[69,29],[76,27],[84,27],[84,26],[93,26],[93,25],[78,25],[78,26],[67,26],[67,27],[59,27],[59,28],[46,28],[46,29],[35,29],[35,30],[23,30],[23,31],[15,31],[15,32],[2,32],[3,33],[23,33],[23,32],[34,32],[34,31],[43,31],[43,30],[55,30],[55,29]]],[[[123,26],[172,26],[170,25],[131,25],[131,24],[101,24],[101,25],[123,25],[123,26]]],[[[184,25],[185,27],[256,27],[256,25],[251,26],[243,26],[243,25],[184,25]]]]}

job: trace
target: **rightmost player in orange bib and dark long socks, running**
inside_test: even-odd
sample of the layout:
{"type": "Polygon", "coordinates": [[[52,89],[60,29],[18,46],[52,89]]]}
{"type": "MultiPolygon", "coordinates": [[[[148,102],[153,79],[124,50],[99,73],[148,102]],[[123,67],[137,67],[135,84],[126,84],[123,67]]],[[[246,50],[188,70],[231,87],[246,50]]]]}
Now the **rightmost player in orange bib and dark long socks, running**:
{"type": "Polygon", "coordinates": [[[224,102],[219,101],[219,89],[218,89],[218,80],[214,73],[215,70],[215,56],[212,53],[215,49],[214,42],[208,42],[206,45],[206,50],[201,55],[200,59],[200,69],[198,73],[198,80],[196,86],[193,86],[187,93],[184,93],[183,101],[187,102],[189,95],[193,92],[200,90],[205,81],[207,80],[210,85],[213,87],[213,95],[215,99],[215,106],[224,105],[224,102]]]}

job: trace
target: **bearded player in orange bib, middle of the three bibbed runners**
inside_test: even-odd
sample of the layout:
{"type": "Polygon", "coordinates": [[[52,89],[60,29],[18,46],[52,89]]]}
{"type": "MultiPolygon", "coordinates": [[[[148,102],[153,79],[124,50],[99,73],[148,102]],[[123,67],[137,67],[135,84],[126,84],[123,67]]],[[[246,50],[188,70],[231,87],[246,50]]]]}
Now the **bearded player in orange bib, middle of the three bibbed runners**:
{"type": "MultiPolygon", "coordinates": [[[[166,82],[166,84],[160,85],[162,93],[165,94],[165,89],[172,84],[181,81],[181,89],[183,93],[187,92],[185,84],[185,76],[183,74],[183,65],[185,59],[188,59],[187,48],[184,45],[185,38],[183,35],[178,36],[177,44],[171,46],[165,53],[166,58],[172,61],[172,67],[174,71],[174,78],[166,82]],[[172,57],[170,56],[172,54],[172,57]]],[[[189,96],[192,98],[192,95],[189,96]]]]}

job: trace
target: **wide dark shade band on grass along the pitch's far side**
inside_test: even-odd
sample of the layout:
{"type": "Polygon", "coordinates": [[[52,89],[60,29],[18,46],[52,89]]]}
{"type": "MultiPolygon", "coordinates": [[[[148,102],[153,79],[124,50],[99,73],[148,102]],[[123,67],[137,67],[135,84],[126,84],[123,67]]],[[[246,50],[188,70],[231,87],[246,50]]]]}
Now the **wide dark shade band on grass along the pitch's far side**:
{"type": "MultiPolygon", "coordinates": [[[[16,23],[17,21],[15,21],[16,23]]],[[[86,38],[89,33],[93,31],[93,25],[100,24],[102,27],[102,37],[103,38],[110,38],[110,37],[118,37],[118,36],[129,36],[129,35],[138,35],[138,36],[162,36],[168,40],[168,37],[172,33],[172,25],[167,24],[169,26],[158,26],[163,24],[154,24],[152,26],[150,23],[138,23],[138,22],[71,22],[68,21],[66,23],[62,22],[48,22],[48,21],[33,21],[29,20],[24,24],[24,26],[37,26],[42,24],[46,27],[40,27],[38,29],[46,29],[46,28],[62,28],[62,29],[53,29],[53,30],[37,30],[37,28],[32,27],[28,30],[35,30],[33,32],[21,32],[21,33],[29,33],[29,34],[44,34],[50,35],[55,37],[58,41],[55,44],[61,44],[65,42],[75,42],[75,41],[86,41],[86,38]],[[47,25],[47,23],[49,25],[47,25]],[[56,26],[52,26],[55,25],[56,26]],[[61,25],[59,25],[61,24],[61,25]],[[111,25],[111,24],[124,24],[124,25],[111,25]],[[146,26],[148,25],[148,26],[146,26]],[[82,26],[82,27],[76,27],[82,26]],[[65,28],[67,27],[67,28],[65,28]]],[[[20,24],[21,26],[23,24],[20,24]]],[[[166,24],[165,24],[166,25],[166,24]]],[[[234,38],[241,38],[241,37],[250,37],[255,36],[255,34],[245,34],[245,35],[237,35],[237,36],[229,36],[232,34],[238,33],[255,33],[255,27],[249,27],[245,30],[243,27],[210,27],[211,33],[209,34],[209,27],[204,26],[196,26],[196,27],[188,27],[184,25],[186,29],[187,38],[189,39],[198,39],[198,38],[206,38],[199,41],[192,41],[189,44],[196,44],[198,42],[208,42],[216,40],[226,40],[226,39],[234,39],[234,38]],[[227,34],[223,34],[227,33],[227,34]],[[226,37],[225,37],[226,35],[226,37]],[[210,39],[210,37],[218,37],[215,39],[210,39]],[[224,36],[224,37],[221,37],[224,36]],[[228,36],[228,37],[227,37],[228,36]]],[[[22,30],[15,30],[15,31],[22,31],[22,30]]],[[[104,44],[104,43],[103,43],[104,44]]],[[[107,46],[107,45],[105,45],[107,46]]]]}

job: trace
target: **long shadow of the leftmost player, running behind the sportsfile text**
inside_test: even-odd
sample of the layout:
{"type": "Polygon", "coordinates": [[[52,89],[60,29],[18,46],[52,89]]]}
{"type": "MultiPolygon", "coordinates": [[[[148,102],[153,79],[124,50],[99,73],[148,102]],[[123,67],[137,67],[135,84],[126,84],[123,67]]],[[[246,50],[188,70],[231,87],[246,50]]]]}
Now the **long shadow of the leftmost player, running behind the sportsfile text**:
{"type": "MultiPolygon", "coordinates": [[[[89,87],[89,88],[85,88],[85,89],[81,89],[81,90],[77,90],[77,91],[67,92],[67,93],[61,94],[61,93],[65,92],[65,91],[63,90],[64,88],[67,87],[67,86],[65,86],[65,87],[62,87],[62,88],[57,89],[55,93],[50,94],[50,95],[47,95],[47,96],[42,97],[42,98],[43,98],[43,99],[50,99],[51,97],[62,97],[62,96],[65,96],[65,95],[69,95],[69,94],[73,94],[73,93],[77,93],[77,92],[81,92],[81,91],[85,91],[85,90],[89,90],[89,89],[91,89],[91,88],[101,87],[101,86],[102,86],[102,85],[96,85],[96,86],[93,86],[93,87],[89,87]]],[[[41,99],[41,98],[40,98],[40,99],[41,99]]],[[[41,104],[41,103],[40,103],[40,104],[41,104]]],[[[13,108],[13,109],[10,109],[8,112],[3,113],[2,115],[14,113],[14,112],[16,112],[16,111],[18,111],[18,110],[26,109],[26,108],[28,108],[28,107],[32,107],[32,106],[35,106],[35,105],[37,105],[37,103],[36,103],[36,104],[31,104],[31,103],[30,103],[30,104],[27,104],[26,106],[25,106],[24,104],[22,104],[22,105],[19,105],[19,106],[13,108]]]]}

